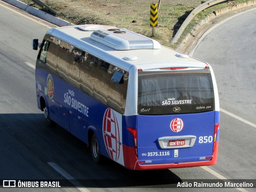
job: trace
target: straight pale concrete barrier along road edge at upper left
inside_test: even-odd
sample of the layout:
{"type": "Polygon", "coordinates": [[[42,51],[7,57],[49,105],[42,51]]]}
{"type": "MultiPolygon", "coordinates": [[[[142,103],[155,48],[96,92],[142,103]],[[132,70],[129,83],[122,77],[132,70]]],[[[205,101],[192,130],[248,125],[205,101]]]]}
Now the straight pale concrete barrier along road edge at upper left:
{"type": "Polygon", "coordinates": [[[60,19],[58,17],[54,17],[53,15],[51,14],[48,14],[46,12],[43,12],[42,10],[39,10],[37,8],[34,8],[32,6],[29,6],[23,2],[20,2],[19,0],[2,0],[3,2],[6,2],[8,4],[11,4],[12,6],[14,7],[17,7],[21,10],[24,10],[38,18],[41,18],[43,20],[46,20],[47,22],[49,23],[52,23],[54,25],[57,25],[57,26],[60,26],[60,27],[63,27],[63,26],[70,26],[70,25],[74,25],[70,22],[67,22],[63,19],[60,19]]]}

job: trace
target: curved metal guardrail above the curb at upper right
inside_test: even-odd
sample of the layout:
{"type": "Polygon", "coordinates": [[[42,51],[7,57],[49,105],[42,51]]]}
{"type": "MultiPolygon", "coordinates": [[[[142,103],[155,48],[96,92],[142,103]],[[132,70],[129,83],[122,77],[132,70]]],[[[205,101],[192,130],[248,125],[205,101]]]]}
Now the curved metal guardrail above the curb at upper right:
{"type": "Polygon", "coordinates": [[[228,1],[228,0],[209,0],[209,1],[204,2],[201,5],[197,6],[196,8],[194,8],[194,10],[192,10],[192,12],[184,20],[184,22],[180,26],[178,32],[175,34],[174,38],[172,39],[171,45],[173,45],[174,43],[177,42],[178,38],[180,38],[180,36],[182,35],[184,29],[188,26],[189,22],[194,18],[194,16],[196,16],[196,14],[198,14],[199,12],[201,12],[202,10],[204,10],[210,6],[213,6],[215,4],[225,2],[225,1],[228,1]]]}

